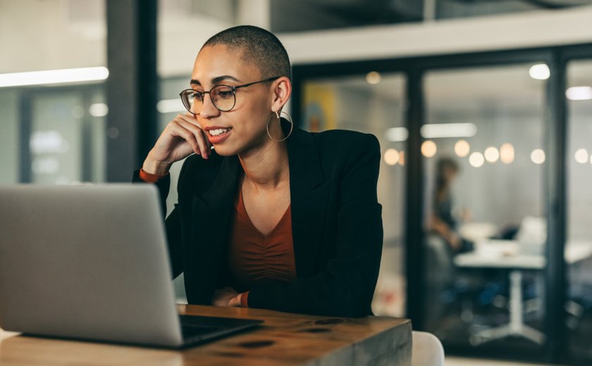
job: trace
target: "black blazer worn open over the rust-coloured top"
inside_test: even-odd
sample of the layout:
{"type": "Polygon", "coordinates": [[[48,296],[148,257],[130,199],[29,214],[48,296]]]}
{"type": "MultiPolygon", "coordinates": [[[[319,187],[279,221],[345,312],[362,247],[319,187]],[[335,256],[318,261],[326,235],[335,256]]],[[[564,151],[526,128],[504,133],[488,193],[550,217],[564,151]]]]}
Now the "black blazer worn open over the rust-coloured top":
{"type": "MultiPolygon", "coordinates": [[[[287,143],[297,278],[249,289],[249,307],[371,315],[383,243],[378,140],[359,132],[295,129],[287,143]]],[[[191,304],[210,305],[215,289],[234,285],[226,249],[241,172],[237,156],[216,153],[208,160],[187,158],[180,172],[178,203],[166,219],[166,232],[173,277],[185,273],[191,304]]],[[[134,180],[140,181],[138,172],[134,180]]],[[[164,204],[169,179],[156,184],[164,204]]]]}

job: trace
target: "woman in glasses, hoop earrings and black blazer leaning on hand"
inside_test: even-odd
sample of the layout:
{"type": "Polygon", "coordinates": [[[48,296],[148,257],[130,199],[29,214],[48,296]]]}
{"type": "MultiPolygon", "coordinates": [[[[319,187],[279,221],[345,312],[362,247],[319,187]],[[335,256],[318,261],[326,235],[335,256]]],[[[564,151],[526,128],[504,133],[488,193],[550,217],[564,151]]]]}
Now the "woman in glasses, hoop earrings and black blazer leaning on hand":
{"type": "Polygon", "coordinates": [[[166,219],[189,303],[371,315],[383,238],[378,141],[280,118],[290,77],[270,32],[214,35],[181,93],[189,113],[167,125],[135,180],[155,182],[164,199],[168,168],[195,153],[166,219]]]}

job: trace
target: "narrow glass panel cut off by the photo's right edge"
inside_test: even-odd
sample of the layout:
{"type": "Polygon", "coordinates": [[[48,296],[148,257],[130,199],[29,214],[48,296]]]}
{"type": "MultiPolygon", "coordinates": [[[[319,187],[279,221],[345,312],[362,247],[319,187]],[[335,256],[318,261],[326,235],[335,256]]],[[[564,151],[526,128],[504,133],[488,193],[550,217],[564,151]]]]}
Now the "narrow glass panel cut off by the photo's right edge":
{"type": "Polygon", "coordinates": [[[592,60],[567,65],[567,346],[592,362],[592,60]]]}

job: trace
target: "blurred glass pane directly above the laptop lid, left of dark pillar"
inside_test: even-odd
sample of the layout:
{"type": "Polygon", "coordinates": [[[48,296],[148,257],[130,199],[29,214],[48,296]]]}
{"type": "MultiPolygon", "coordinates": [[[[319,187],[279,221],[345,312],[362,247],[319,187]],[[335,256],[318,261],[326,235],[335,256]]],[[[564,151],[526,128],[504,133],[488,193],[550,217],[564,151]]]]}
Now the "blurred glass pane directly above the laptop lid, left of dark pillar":
{"type": "Polygon", "coordinates": [[[27,95],[31,112],[30,181],[104,182],[109,108],[101,88],[56,88],[27,95]]]}

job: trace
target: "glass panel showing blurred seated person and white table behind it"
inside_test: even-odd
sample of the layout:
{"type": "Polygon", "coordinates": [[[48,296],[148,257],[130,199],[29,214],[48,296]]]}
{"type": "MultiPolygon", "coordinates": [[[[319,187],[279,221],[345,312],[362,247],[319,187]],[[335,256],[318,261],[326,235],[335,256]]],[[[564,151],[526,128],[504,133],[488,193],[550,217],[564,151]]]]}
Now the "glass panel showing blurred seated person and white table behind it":
{"type": "Polygon", "coordinates": [[[544,64],[437,70],[421,127],[426,327],[445,344],[543,347],[544,64]]]}

